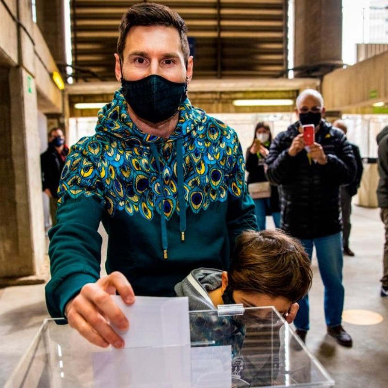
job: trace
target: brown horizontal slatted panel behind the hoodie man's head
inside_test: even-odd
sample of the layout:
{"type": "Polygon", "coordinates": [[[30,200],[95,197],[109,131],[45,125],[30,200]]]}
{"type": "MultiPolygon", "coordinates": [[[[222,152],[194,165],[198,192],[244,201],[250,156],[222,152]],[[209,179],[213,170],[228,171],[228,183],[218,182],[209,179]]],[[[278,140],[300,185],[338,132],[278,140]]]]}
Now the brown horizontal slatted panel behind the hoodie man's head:
{"type": "MultiPolygon", "coordinates": [[[[287,68],[287,0],[154,0],[177,11],[194,42],[194,77],[281,77],[287,68]]],[[[76,81],[113,81],[118,25],[143,1],[71,1],[76,81]]]]}

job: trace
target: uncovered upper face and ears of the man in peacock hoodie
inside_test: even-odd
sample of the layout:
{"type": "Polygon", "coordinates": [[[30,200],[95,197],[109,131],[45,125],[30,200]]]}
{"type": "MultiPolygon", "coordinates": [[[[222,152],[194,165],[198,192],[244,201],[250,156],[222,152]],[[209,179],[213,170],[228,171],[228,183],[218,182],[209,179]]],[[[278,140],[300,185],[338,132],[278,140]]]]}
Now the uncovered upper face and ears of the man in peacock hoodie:
{"type": "MultiPolygon", "coordinates": [[[[118,54],[115,75],[121,81],[118,54]]],[[[157,74],[169,81],[189,83],[193,76],[193,57],[187,70],[180,46],[179,33],[174,27],[135,26],[129,30],[123,52],[123,76],[127,81],[138,81],[157,74]]]]}

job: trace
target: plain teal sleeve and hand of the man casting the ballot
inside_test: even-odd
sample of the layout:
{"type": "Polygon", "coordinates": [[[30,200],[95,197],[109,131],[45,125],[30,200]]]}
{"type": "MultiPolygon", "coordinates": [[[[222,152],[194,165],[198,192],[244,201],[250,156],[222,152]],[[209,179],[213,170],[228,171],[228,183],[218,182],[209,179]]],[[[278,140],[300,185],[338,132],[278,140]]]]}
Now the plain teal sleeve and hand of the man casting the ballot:
{"type": "Polygon", "coordinates": [[[110,323],[125,330],[129,323],[111,295],[134,302],[133,290],[119,272],[99,278],[101,236],[97,232],[104,211],[93,197],[66,198],[58,209],[58,223],[49,231],[51,280],[46,303],[53,317],[66,317],[90,342],[121,348],[124,342],[110,323]]]}

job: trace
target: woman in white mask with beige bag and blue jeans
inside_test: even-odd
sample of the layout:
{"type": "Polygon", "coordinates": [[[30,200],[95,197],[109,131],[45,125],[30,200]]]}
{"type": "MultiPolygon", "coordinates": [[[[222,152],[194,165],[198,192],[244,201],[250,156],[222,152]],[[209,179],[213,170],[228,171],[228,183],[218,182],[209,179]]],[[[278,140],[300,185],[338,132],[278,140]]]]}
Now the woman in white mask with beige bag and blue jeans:
{"type": "Polygon", "coordinates": [[[246,171],[248,171],[248,191],[255,202],[255,213],[259,230],[266,228],[266,216],[271,215],[275,227],[280,227],[279,194],[277,186],[271,185],[265,176],[265,159],[272,142],[271,129],[268,124],[256,125],[253,142],[246,152],[246,171]],[[255,189],[259,190],[255,190],[255,189]]]}

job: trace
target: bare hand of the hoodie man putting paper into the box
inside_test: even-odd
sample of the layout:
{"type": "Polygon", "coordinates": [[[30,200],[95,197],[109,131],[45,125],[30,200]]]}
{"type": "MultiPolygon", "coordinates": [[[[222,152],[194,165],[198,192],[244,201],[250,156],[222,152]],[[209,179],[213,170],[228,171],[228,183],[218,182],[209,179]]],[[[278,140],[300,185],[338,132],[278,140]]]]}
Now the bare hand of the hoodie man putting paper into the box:
{"type": "Polygon", "coordinates": [[[70,326],[90,342],[104,348],[109,345],[124,347],[124,340],[110,323],[123,331],[129,328],[127,318],[111,297],[116,291],[127,305],[135,301],[128,279],[120,272],[113,272],[101,277],[96,283],[85,284],[65,308],[70,326]]]}

